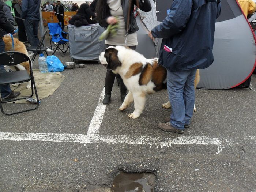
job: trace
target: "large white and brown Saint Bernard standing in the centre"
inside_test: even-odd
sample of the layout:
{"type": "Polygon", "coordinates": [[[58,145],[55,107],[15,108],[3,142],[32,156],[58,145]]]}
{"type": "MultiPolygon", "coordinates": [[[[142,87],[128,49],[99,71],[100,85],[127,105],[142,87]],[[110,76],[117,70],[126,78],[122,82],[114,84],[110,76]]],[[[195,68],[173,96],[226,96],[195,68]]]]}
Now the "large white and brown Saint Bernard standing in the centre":
{"type": "MultiPolygon", "coordinates": [[[[134,101],[134,111],[128,115],[129,118],[135,119],[142,114],[147,94],[167,89],[167,70],[158,65],[158,58],[147,59],[125,46],[109,46],[100,54],[99,60],[107,69],[119,74],[129,90],[119,108],[123,111],[134,101]]],[[[195,87],[198,82],[199,70],[196,72],[195,87]]]]}

